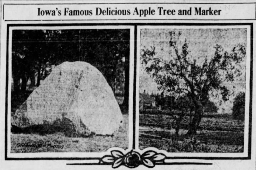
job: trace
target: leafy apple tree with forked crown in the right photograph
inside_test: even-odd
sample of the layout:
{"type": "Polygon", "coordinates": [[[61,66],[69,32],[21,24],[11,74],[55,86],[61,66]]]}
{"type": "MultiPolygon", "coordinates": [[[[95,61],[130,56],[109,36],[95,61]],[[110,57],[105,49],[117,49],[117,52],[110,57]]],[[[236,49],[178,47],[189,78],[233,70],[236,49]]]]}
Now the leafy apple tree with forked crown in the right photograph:
{"type": "Polygon", "coordinates": [[[220,45],[216,45],[211,59],[199,62],[196,57],[189,56],[186,39],[182,51],[178,50],[177,41],[181,32],[169,32],[169,45],[174,51],[167,59],[156,56],[155,47],[142,49],[142,64],[145,70],[164,90],[176,98],[186,95],[192,101],[194,115],[187,134],[196,134],[204,108],[209,101],[209,93],[218,90],[223,100],[228,100],[229,90],[223,82],[234,81],[235,65],[246,55],[245,46],[238,44],[228,53],[220,45]]]}

